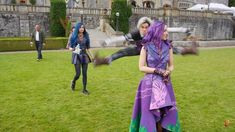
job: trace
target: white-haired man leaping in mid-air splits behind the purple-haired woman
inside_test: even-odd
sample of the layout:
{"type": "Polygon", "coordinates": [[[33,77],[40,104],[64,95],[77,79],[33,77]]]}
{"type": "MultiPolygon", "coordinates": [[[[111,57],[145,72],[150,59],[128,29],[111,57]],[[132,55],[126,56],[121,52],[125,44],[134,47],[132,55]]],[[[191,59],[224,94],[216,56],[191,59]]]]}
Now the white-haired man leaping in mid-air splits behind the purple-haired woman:
{"type": "MultiPolygon", "coordinates": [[[[125,57],[125,56],[137,56],[140,55],[140,50],[142,48],[141,40],[143,39],[144,35],[147,33],[148,27],[151,25],[152,20],[148,17],[142,17],[139,19],[137,23],[137,29],[125,34],[123,36],[118,36],[118,37],[113,37],[113,38],[108,38],[103,42],[104,46],[108,46],[110,44],[116,43],[116,42],[134,42],[134,46],[132,47],[127,47],[124,49],[121,49],[114,54],[101,58],[97,54],[95,55],[94,58],[94,65],[99,66],[99,65],[108,65],[112,61],[117,60],[119,58],[125,57]]],[[[189,29],[187,28],[168,28],[169,32],[182,32],[182,33],[187,33],[188,35],[190,34],[189,29]]],[[[174,54],[197,54],[198,50],[195,46],[192,46],[190,48],[178,48],[178,47],[173,47],[174,49],[174,54]]]]}

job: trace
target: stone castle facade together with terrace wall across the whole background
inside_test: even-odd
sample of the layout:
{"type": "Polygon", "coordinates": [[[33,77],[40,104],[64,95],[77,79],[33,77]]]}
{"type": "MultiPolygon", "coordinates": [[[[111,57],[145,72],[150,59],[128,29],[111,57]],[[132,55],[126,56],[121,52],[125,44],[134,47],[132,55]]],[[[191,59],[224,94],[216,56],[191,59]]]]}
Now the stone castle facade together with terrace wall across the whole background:
{"type": "MultiPolygon", "coordinates": [[[[7,3],[9,1],[10,0],[0,0],[0,36],[29,36],[34,29],[35,24],[40,24],[42,29],[49,35],[50,0],[38,0],[37,6],[30,6],[30,3],[28,3],[29,0],[26,0],[26,3],[24,4],[17,5],[10,5],[7,3]]],[[[160,7],[160,5],[163,6],[164,4],[175,7],[180,6],[180,3],[184,3],[184,7],[186,7],[195,4],[195,2],[202,3],[207,0],[148,1],[136,0],[136,5],[150,7],[148,7],[149,9],[147,10],[146,8],[132,9],[133,15],[129,19],[131,27],[130,30],[135,28],[140,17],[148,16],[153,19],[164,20],[170,27],[195,28],[195,35],[199,36],[202,40],[231,39],[233,36],[234,21],[229,15],[192,12],[177,10],[175,8],[156,9],[157,7],[160,7]],[[149,3],[146,3],[148,1],[151,1],[150,5],[148,5],[149,3]]],[[[66,0],[66,2],[68,7],[67,16],[72,17],[74,23],[77,21],[83,21],[88,29],[99,27],[101,20],[104,20],[103,18],[107,18],[111,14],[111,0],[84,0],[84,3],[82,3],[83,0],[79,0],[79,2],[76,3],[78,5],[75,5],[75,3],[71,4],[71,0],[66,0]]],[[[228,0],[217,0],[217,2],[224,2],[224,4],[226,4],[228,3],[228,0]]],[[[183,38],[183,34],[173,33],[170,34],[170,38],[181,40],[183,38]]]]}

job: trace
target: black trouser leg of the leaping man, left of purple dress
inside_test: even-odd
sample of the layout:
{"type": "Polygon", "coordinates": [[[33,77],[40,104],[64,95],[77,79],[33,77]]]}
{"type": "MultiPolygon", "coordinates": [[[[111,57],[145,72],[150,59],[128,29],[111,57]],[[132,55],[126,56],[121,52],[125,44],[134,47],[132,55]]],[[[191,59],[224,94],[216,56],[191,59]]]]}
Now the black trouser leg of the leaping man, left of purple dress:
{"type": "Polygon", "coordinates": [[[127,47],[125,49],[121,49],[110,56],[110,60],[114,61],[116,59],[125,57],[125,56],[137,56],[140,55],[140,50],[137,47],[127,47]]]}

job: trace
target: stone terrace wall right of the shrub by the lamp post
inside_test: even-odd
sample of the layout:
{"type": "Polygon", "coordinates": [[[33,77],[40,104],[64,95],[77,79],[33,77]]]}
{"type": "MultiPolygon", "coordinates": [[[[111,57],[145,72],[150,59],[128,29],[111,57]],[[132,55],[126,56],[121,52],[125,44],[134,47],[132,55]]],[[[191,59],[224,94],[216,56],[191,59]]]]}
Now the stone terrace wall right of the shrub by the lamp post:
{"type": "MultiPolygon", "coordinates": [[[[195,29],[194,35],[201,40],[224,40],[233,37],[233,23],[230,15],[206,12],[192,12],[174,9],[148,10],[143,13],[134,12],[130,17],[130,30],[136,28],[138,19],[145,14],[157,20],[163,20],[168,27],[185,27],[195,29]]],[[[173,40],[183,40],[184,33],[170,33],[173,40]]]]}

